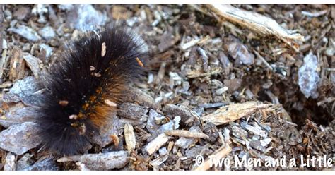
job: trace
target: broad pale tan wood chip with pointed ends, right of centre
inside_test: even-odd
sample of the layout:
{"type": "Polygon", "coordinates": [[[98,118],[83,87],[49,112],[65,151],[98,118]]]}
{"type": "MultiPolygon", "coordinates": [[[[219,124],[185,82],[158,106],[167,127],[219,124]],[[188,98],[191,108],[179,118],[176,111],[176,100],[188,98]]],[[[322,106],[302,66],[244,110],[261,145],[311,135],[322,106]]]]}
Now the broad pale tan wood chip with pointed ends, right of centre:
{"type": "Polygon", "coordinates": [[[264,109],[270,106],[271,104],[263,104],[261,102],[229,104],[221,107],[211,114],[201,117],[201,119],[215,125],[223,125],[225,123],[229,123],[230,121],[241,119],[242,117],[252,114],[259,109],[264,109]]]}

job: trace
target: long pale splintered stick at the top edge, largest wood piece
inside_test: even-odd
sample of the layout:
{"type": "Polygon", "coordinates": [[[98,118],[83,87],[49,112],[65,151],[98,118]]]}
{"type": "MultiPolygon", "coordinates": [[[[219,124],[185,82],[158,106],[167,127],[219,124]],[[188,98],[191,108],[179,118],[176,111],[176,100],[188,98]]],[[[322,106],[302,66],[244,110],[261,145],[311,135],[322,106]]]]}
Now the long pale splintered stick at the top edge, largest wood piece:
{"type": "Polygon", "coordinates": [[[260,35],[274,35],[286,42],[295,52],[299,52],[299,45],[295,41],[305,41],[304,37],[294,30],[286,30],[279,25],[276,20],[262,16],[259,13],[245,11],[230,5],[208,4],[206,5],[213,13],[228,20],[237,23],[245,28],[249,28],[260,35]]]}

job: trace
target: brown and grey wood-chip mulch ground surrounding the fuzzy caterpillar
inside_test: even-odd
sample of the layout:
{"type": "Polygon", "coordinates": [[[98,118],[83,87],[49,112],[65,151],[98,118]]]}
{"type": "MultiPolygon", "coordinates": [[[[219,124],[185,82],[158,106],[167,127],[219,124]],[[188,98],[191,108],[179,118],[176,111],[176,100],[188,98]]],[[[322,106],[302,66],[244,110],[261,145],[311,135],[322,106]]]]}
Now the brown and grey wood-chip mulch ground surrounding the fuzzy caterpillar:
{"type": "Polygon", "coordinates": [[[334,5],[224,6],[218,13],[228,20],[204,11],[208,6],[1,6],[1,170],[335,169],[233,164],[235,157],[300,155],[326,155],[334,164],[334,5]],[[276,37],[241,28],[227,16],[232,9],[272,21],[272,32],[261,33],[276,37]],[[151,71],[88,152],[52,157],[38,150],[39,140],[30,139],[43,92],[37,79],[57,62],[63,43],[116,18],[146,40],[151,71]],[[211,167],[211,157],[230,164],[211,167]]]}

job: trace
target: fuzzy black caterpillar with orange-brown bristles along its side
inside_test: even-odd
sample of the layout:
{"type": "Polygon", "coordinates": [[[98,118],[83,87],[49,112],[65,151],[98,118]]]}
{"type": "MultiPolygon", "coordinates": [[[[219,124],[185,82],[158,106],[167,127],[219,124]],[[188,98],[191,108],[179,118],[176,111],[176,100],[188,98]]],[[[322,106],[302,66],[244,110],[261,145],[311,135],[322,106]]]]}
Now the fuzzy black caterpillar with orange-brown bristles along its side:
{"type": "Polygon", "coordinates": [[[69,42],[38,108],[42,150],[61,155],[88,150],[90,138],[122,102],[128,84],[143,72],[147,52],[143,40],[122,26],[69,42]]]}

